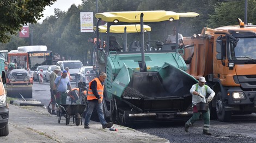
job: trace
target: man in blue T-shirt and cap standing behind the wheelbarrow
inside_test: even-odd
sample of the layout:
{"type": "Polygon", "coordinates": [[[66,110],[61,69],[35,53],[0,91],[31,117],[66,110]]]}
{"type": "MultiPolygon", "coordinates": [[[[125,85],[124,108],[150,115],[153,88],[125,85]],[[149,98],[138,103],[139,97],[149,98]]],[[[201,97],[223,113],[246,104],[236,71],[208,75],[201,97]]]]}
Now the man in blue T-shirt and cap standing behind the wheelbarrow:
{"type": "Polygon", "coordinates": [[[54,81],[53,92],[56,93],[56,102],[58,105],[66,104],[66,98],[70,92],[72,92],[71,84],[69,81],[68,72],[63,70],[62,76],[58,76],[54,81]],[[69,89],[69,93],[66,93],[66,89],[69,89]]]}

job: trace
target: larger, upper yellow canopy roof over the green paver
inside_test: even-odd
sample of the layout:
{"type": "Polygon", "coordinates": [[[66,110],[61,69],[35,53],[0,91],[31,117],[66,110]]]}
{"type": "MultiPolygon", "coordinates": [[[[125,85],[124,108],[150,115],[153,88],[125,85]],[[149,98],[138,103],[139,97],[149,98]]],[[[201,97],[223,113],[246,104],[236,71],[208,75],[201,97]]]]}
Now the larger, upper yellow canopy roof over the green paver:
{"type": "Polygon", "coordinates": [[[196,17],[199,16],[196,12],[176,13],[173,11],[154,10],[154,11],[115,11],[103,12],[95,14],[96,18],[101,18],[102,21],[113,22],[117,19],[119,22],[137,23],[140,22],[141,14],[144,14],[144,22],[160,22],[168,21],[170,18],[174,20],[180,17],[196,17]]]}

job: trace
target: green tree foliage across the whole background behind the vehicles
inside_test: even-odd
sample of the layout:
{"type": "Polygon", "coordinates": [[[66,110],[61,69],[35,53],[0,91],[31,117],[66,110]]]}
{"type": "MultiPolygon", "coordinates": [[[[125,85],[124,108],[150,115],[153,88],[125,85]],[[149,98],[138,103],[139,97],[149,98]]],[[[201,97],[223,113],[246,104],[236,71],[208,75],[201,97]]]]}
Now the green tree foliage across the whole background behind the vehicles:
{"type": "MultiPolygon", "coordinates": [[[[46,45],[48,50],[59,53],[66,60],[81,60],[84,64],[91,59],[93,44],[88,38],[94,38],[93,32],[80,32],[80,12],[94,12],[96,14],[95,0],[81,0],[82,5],[71,5],[68,11],[55,9],[54,15],[42,23],[35,23],[35,19],[41,17],[41,12],[46,5],[56,0],[0,0],[0,49],[14,50],[19,46],[31,44],[29,38],[19,38],[17,32],[21,24],[29,25],[33,30],[33,45],[46,45]],[[13,34],[13,35],[11,35],[13,34]],[[8,37],[9,36],[9,37],[8,37]]],[[[61,1],[61,0],[58,0],[61,1]]],[[[248,22],[256,24],[256,0],[248,0],[248,22]]],[[[200,34],[204,27],[216,28],[223,25],[237,24],[236,18],[244,19],[244,1],[218,2],[217,0],[98,0],[98,12],[105,11],[136,11],[136,10],[166,10],[174,12],[197,12],[196,18],[181,18],[179,22],[180,33],[184,36],[200,34]]],[[[97,19],[94,18],[94,25],[97,19]]],[[[151,40],[162,41],[170,34],[162,25],[157,29],[151,29],[158,35],[151,35],[151,40]]],[[[138,34],[130,34],[132,37],[127,42],[140,39],[138,34]]],[[[117,37],[121,41],[122,36],[117,37]]],[[[147,38],[147,34],[145,34],[147,38]]],[[[119,42],[122,46],[123,43],[119,42]]]]}

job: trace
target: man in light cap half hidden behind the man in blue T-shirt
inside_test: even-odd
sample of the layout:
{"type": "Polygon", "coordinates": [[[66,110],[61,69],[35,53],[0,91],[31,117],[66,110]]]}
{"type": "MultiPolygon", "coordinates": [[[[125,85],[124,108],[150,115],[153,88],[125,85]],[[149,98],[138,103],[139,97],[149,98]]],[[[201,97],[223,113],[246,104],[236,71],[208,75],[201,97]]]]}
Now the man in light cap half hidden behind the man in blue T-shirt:
{"type": "Polygon", "coordinates": [[[57,115],[55,112],[55,106],[56,106],[56,99],[55,99],[55,94],[53,93],[53,86],[54,86],[54,81],[56,80],[58,73],[60,71],[60,67],[56,66],[53,72],[50,74],[50,92],[51,92],[51,104],[52,104],[52,115],[57,115]]]}

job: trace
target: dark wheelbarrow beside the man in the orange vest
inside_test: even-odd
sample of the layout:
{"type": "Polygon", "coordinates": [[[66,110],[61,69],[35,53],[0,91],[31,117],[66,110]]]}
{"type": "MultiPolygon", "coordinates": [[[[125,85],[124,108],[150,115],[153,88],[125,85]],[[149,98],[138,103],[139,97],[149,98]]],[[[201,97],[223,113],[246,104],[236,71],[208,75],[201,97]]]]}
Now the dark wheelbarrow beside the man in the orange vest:
{"type": "Polygon", "coordinates": [[[76,126],[82,125],[82,115],[84,109],[86,109],[86,105],[59,105],[59,120],[62,119],[62,116],[66,118],[66,125],[69,125],[70,118],[73,118],[73,124],[76,123],[76,126]]]}

